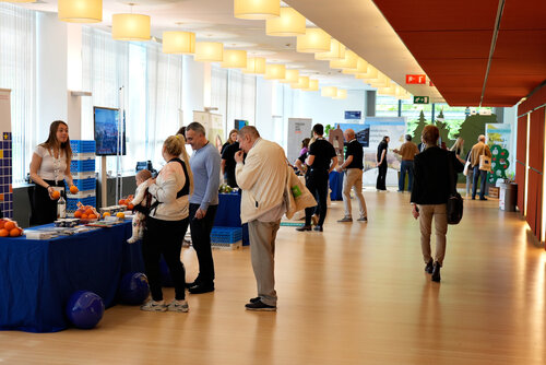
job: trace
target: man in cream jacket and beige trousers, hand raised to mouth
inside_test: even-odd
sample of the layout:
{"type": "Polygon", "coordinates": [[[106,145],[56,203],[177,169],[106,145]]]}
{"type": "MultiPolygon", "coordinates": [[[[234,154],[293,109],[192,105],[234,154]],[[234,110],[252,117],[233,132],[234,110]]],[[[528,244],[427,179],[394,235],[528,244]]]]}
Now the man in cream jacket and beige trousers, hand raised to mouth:
{"type": "Polygon", "coordinates": [[[240,151],[235,154],[235,178],[242,190],[241,222],[248,222],[250,258],[258,286],[258,297],[248,310],[276,310],[275,238],[286,211],[284,191],[287,168],[283,148],[260,138],[254,127],[238,133],[240,151]],[[242,155],[247,153],[245,163],[242,155]]]}

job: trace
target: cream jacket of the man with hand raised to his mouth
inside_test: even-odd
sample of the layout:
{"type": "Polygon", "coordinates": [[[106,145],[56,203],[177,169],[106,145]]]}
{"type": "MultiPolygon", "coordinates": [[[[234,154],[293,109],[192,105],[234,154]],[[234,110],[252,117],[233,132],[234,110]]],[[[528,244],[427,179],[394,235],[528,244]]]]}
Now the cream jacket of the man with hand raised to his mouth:
{"type": "Polygon", "coordinates": [[[283,148],[258,139],[248,152],[245,164],[237,164],[235,178],[242,190],[242,223],[253,221],[283,203],[286,186],[286,157],[283,148]]]}

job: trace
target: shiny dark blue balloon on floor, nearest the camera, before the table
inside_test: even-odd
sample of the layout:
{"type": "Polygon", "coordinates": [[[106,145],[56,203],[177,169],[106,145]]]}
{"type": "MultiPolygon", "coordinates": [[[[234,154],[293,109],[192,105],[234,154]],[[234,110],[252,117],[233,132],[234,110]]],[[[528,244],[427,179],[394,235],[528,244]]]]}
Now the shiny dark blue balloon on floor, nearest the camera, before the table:
{"type": "Polygon", "coordinates": [[[93,292],[78,291],[68,301],[67,316],[78,328],[95,327],[103,319],[103,299],[93,292]]]}

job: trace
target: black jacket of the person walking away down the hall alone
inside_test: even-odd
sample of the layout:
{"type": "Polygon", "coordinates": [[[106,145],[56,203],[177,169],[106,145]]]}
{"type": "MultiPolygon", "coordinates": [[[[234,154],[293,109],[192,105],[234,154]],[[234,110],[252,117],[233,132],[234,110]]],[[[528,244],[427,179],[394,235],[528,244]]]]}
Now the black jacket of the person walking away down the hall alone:
{"type": "Polygon", "coordinates": [[[448,163],[451,161],[455,175],[462,173],[464,165],[455,153],[439,146],[431,146],[415,155],[412,203],[443,204],[448,202],[450,187],[448,163]]]}

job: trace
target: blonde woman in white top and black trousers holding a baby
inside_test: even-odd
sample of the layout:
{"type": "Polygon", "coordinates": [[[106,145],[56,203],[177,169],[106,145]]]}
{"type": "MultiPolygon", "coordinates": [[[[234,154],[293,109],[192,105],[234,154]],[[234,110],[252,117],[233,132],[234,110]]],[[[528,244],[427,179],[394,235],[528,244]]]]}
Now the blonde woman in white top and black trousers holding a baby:
{"type": "Polygon", "coordinates": [[[167,162],[147,191],[152,195],[150,215],[146,217],[142,256],[152,299],[141,306],[149,311],[188,311],[186,302],[186,270],[180,250],[189,223],[189,195],[193,179],[182,136],[170,136],[163,144],[163,158],[167,162]],[[179,156],[181,158],[179,158],[179,156]],[[168,306],[163,299],[159,258],[165,262],[175,283],[175,301],[168,306]]]}

